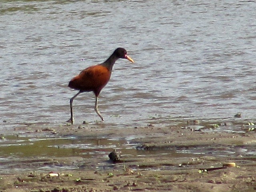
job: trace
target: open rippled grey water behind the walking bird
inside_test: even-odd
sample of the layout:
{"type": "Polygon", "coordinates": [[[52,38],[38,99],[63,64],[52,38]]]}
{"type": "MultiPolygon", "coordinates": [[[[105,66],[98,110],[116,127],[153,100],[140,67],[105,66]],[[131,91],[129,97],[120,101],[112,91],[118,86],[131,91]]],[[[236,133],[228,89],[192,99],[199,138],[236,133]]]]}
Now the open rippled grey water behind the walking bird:
{"type": "MultiPolygon", "coordinates": [[[[67,85],[122,46],[102,90],[106,124],[255,114],[252,1],[2,1],[0,129],[69,118],[67,85]]],[[[77,123],[99,120],[94,95],[74,101],[77,123]]]]}

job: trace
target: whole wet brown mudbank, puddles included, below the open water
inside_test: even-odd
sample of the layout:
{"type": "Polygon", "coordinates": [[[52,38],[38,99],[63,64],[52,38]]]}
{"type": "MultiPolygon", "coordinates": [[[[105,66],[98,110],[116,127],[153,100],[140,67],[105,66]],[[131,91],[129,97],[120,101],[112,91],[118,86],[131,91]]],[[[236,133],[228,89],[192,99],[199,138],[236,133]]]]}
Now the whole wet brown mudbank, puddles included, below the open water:
{"type": "Polygon", "coordinates": [[[0,141],[3,192],[256,190],[252,122],[27,124],[0,141]]]}

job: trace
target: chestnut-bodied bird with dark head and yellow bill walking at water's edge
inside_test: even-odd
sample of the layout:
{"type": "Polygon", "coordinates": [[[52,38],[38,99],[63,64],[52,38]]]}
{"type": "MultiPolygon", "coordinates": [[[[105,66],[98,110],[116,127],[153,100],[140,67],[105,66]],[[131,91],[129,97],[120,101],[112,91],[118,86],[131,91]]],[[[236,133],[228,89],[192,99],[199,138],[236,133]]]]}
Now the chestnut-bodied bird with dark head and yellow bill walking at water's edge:
{"type": "Polygon", "coordinates": [[[98,96],[102,88],[104,88],[110,80],[114,63],[120,58],[127,59],[134,63],[134,60],[127,55],[127,51],[124,48],[117,48],[105,62],[82,70],[80,74],[70,80],[68,86],[72,89],[79,90],[79,92],[70,99],[70,119],[67,122],[74,124],[74,112],[72,106],[74,99],[82,92],[91,91],[94,92],[96,98],[94,110],[101,120],[104,121],[104,118],[98,110],[98,96]]]}

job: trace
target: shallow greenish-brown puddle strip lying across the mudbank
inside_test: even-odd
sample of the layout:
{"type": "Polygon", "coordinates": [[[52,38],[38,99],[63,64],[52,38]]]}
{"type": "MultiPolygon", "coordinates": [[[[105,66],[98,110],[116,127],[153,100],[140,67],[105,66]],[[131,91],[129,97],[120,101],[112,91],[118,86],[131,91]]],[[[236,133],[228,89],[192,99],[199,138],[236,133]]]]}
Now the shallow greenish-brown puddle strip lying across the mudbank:
{"type": "MultiPolygon", "coordinates": [[[[142,149],[140,144],[125,139],[104,138],[29,138],[6,136],[0,140],[0,173],[25,172],[28,170],[58,171],[74,169],[105,170],[112,169],[108,154],[116,149],[125,160],[126,166],[136,170],[150,167],[144,164],[152,160],[152,169],[177,169],[177,162],[195,161],[204,158],[234,158],[243,157],[250,162],[255,157],[255,145],[208,146],[204,144],[191,146],[157,146],[152,149],[142,149]],[[145,160],[147,158],[147,160],[145,160]],[[157,159],[166,160],[157,164],[157,159]],[[144,162],[144,163],[143,163],[144,162]],[[138,166],[140,165],[140,166],[138,166]]],[[[216,160],[217,161],[217,160],[216,160]]],[[[200,163],[201,164],[201,163],[200,163]]],[[[122,165],[122,164],[121,164],[122,165]]],[[[180,169],[180,168],[179,168],[180,169]]]]}

